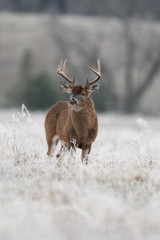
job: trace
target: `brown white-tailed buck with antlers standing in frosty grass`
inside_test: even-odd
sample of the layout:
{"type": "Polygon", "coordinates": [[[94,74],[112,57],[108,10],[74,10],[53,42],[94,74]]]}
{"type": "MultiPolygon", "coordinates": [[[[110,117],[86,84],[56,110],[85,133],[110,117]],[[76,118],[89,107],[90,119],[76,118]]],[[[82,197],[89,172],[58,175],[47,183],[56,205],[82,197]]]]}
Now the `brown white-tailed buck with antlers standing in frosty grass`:
{"type": "Polygon", "coordinates": [[[98,121],[94,103],[89,97],[99,88],[96,83],[100,77],[100,59],[97,60],[98,70],[89,69],[97,75],[92,82],[85,85],[75,85],[74,79],[70,79],[65,73],[66,60],[63,63],[61,59],[58,65],[57,73],[64,77],[69,84],[61,83],[64,92],[70,94],[69,102],[57,102],[50,108],[45,119],[45,131],[48,144],[47,155],[52,156],[56,145],[60,141],[62,146],[57,158],[61,158],[64,150],[67,148],[75,150],[75,146],[82,149],[82,162],[88,163],[88,154],[91,151],[91,145],[94,142],[97,131],[98,121]]]}

